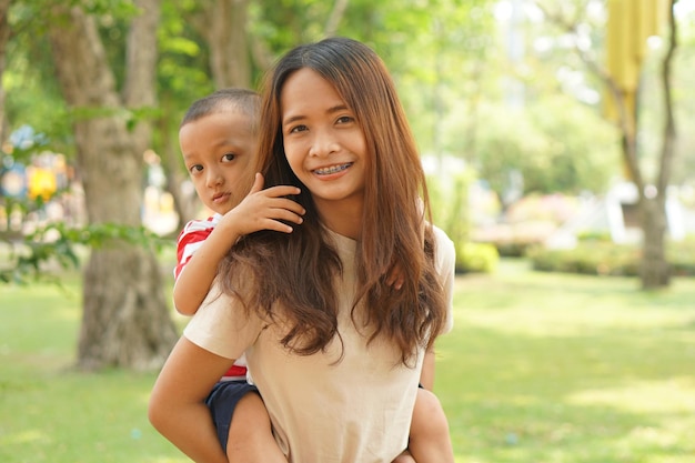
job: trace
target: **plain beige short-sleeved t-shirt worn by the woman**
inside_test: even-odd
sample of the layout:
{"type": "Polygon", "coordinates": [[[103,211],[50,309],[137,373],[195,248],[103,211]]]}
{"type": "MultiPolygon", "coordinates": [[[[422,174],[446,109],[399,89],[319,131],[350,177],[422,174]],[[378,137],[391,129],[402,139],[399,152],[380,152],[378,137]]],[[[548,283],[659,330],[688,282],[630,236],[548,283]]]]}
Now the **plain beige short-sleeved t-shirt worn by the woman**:
{"type": "MultiPolygon", "coordinates": [[[[184,335],[228,359],[246,353],[249,369],[270,414],[275,440],[290,463],[390,463],[407,445],[410,422],[424,352],[415,368],[384,340],[366,344],[350,318],[355,275],[355,241],[332,234],[343,263],[339,331],[313,355],[288,352],[281,325],[265,329],[214,286],[189,322],[184,335]]],[[[454,246],[435,228],[436,262],[450,301],[444,331],[453,325],[454,246]]],[[[361,325],[361,324],[359,324],[361,325]]]]}

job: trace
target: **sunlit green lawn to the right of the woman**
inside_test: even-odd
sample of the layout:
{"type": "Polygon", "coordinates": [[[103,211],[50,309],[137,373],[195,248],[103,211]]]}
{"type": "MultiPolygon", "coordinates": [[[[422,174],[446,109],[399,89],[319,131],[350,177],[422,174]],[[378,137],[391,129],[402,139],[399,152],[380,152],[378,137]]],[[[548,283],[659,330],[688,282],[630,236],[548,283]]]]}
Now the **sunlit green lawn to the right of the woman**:
{"type": "Polygon", "coordinates": [[[459,463],[695,461],[695,280],[531,272],[455,286],[435,392],[459,463]]]}

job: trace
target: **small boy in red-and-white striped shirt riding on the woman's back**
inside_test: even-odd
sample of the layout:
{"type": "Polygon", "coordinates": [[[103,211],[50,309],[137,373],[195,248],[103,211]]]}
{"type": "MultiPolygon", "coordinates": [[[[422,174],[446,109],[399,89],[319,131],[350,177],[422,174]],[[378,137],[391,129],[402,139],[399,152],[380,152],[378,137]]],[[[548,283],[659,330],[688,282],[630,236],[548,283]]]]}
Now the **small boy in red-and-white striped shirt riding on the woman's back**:
{"type": "MultiPolygon", "coordinates": [[[[299,194],[299,190],[294,187],[262,190],[263,178],[259,173],[250,193],[240,202],[239,188],[246,184],[253,165],[259,105],[260,99],[252,91],[220,90],[195,101],[181,122],[179,142],[187,170],[199,198],[214,212],[210,219],[189,222],[179,236],[173,300],[182,314],[195,313],[215,278],[218,264],[242,235],[259,230],[291,233],[292,227],[286,223],[302,223],[303,208],[284,198],[299,194]]],[[[392,272],[387,283],[399,289],[399,280],[397,272],[392,272]]],[[[422,382],[431,389],[432,354],[426,355],[425,365],[422,382]]],[[[243,455],[263,462],[286,462],[272,436],[258,390],[245,376],[241,359],[222,378],[225,384],[215,385],[208,400],[223,450],[230,461],[243,455]],[[216,410],[220,406],[226,410],[216,410]],[[224,416],[233,416],[231,423],[224,416]],[[228,441],[228,436],[233,439],[228,441]],[[228,442],[233,446],[228,446],[228,442]]],[[[426,389],[420,391],[413,411],[410,449],[413,456],[420,457],[419,463],[446,463],[440,453],[452,453],[446,419],[439,401],[426,389]]],[[[413,461],[404,453],[394,463],[413,461]]]]}

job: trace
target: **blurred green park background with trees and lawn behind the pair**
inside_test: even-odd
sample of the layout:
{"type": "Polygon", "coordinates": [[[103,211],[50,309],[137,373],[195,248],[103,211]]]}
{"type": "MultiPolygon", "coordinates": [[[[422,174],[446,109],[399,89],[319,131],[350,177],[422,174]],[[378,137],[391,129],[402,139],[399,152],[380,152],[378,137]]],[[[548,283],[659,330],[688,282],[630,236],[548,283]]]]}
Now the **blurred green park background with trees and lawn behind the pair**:
{"type": "Polygon", "coordinates": [[[363,40],[457,249],[457,462],[695,457],[695,2],[0,0],[0,461],[183,462],[147,423],[204,215],[177,131],[363,40]]]}

